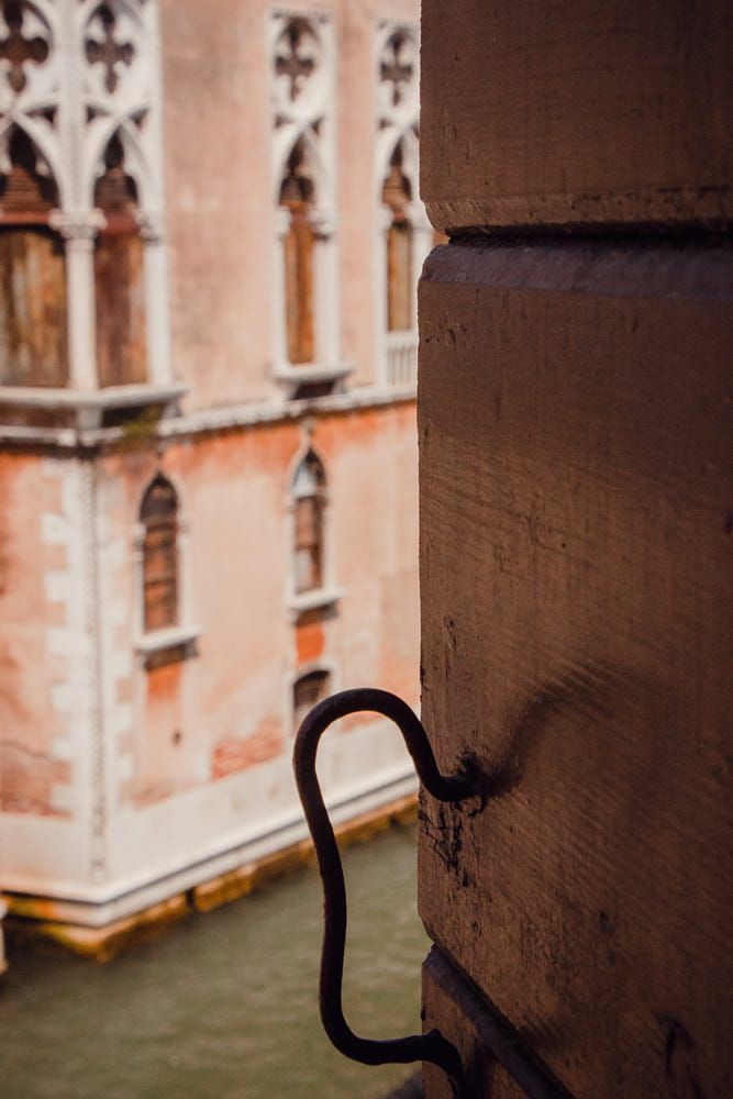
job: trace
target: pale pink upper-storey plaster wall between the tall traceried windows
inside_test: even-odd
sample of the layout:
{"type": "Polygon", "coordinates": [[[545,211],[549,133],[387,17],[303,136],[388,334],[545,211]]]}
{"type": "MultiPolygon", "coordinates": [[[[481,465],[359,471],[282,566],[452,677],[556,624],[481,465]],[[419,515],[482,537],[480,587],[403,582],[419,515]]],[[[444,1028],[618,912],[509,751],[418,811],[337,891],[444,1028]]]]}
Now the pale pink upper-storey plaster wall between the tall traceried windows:
{"type": "MultiPolygon", "coordinates": [[[[173,354],[188,406],[270,392],[270,69],[266,0],[162,0],[173,354]]],[[[342,356],[374,380],[375,111],[378,18],[419,4],[330,5],[336,34],[342,356]]],[[[302,3],[298,10],[323,10],[302,3]]]]}

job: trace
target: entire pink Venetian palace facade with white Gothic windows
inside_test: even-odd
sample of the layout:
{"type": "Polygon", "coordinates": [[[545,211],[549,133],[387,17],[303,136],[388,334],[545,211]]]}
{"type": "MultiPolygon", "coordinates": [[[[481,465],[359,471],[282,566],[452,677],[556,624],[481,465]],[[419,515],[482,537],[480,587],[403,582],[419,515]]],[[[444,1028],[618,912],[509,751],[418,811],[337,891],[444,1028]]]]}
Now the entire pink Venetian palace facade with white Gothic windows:
{"type": "MultiPolygon", "coordinates": [[[[299,715],[417,703],[418,60],[410,0],[0,2],[11,911],[89,939],[287,847],[299,715]]],[[[336,819],[413,789],[327,742],[336,819]]]]}

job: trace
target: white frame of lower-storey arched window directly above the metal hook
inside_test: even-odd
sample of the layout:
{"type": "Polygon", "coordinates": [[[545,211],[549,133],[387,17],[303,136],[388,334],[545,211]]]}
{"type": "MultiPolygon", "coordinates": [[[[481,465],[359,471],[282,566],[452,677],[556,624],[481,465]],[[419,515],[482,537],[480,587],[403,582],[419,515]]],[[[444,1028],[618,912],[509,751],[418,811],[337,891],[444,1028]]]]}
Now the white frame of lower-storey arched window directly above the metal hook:
{"type": "Polygon", "coordinates": [[[329,476],[326,465],[311,442],[300,447],[288,469],[288,492],[285,503],[286,513],[286,537],[288,547],[287,568],[287,590],[286,607],[290,612],[290,619],[297,624],[300,619],[311,611],[326,613],[335,610],[344,591],[335,581],[333,560],[333,508],[331,507],[331,492],[329,488],[329,476]],[[297,566],[296,566],[296,508],[301,499],[296,491],[296,478],[300,466],[309,454],[313,454],[323,470],[324,484],[320,496],[322,501],[321,517],[321,587],[309,591],[298,591],[297,566]]]}

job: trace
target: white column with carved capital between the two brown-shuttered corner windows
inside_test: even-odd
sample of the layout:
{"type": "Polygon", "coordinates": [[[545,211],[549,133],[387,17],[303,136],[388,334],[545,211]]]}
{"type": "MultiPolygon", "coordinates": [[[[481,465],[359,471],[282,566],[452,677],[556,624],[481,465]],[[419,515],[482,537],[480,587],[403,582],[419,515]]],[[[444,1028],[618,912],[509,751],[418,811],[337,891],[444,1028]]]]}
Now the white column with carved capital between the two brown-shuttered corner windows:
{"type": "Polygon", "coordinates": [[[69,385],[73,389],[97,389],[97,322],[95,306],[95,238],[104,224],[97,211],[85,214],[56,213],[52,227],[66,246],[66,301],[69,341],[69,385]]]}

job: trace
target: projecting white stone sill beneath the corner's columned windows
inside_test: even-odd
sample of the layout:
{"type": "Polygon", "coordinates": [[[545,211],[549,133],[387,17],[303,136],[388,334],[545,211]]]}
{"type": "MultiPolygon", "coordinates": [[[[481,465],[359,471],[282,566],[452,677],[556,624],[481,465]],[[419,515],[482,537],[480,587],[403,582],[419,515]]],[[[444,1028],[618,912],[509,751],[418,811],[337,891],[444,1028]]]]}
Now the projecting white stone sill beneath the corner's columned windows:
{"type": "Polygon", "coordinates": [[[175,408],[188,392],[188,386],[171,381],[167,385],[135,384],[108,386],[104,389],[51,389],[43,386],[0,386],[0,421],[3,423],[40,421],[53,426],[75,426],[95,430],[104,425],[105,418],[130,419],[141,410],[160,408],[162,414],[175,408]]]}

